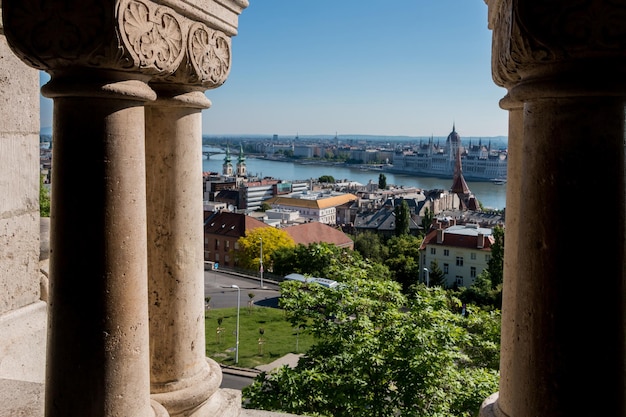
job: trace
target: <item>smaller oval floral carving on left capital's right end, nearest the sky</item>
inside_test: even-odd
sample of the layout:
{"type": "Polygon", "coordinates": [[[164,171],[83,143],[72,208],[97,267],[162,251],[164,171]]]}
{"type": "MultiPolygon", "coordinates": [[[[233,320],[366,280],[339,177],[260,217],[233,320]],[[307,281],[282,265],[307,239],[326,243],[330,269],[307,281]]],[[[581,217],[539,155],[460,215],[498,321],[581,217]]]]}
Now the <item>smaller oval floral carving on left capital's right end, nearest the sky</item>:
{"type": "Polygon", "coordinates": [[[230,38],[196,23],[189,30],[189,59],[198,82],[207,87],[222,85],[230,72],[230,38]]]}

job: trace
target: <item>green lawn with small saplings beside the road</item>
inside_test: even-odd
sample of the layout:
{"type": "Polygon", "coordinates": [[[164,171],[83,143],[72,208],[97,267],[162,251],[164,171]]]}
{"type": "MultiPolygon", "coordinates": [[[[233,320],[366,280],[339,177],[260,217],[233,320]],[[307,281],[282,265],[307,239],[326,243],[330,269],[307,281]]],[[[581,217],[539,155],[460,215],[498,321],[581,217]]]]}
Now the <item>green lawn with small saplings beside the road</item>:
{"type": "Polygon", "coordinates": [[[307,332],[297,332],[278,308],[253,306],[239,311],[239,363],[235,364],[237,308],[209,310],[205,314],[207,356],[223,365],[254,368],[287,353],[303,353],[313,344],[307,332]],[[218,318],[222,330],[218,335],[218,318]],[[263,329],[261,335],[260,329],[263,329]],[[262,343],[259,343],[259,340],[262,343]]]}

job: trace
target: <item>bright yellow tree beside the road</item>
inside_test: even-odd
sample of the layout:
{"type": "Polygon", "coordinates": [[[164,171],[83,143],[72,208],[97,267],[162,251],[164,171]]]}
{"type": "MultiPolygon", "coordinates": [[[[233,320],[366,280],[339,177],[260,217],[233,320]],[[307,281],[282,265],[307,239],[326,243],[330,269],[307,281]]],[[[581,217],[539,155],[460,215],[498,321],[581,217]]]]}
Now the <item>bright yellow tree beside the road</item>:
{"type": "Polygon", "coordinates": [[[272,254],[283,247],[294,246],[295,242],[284,230],[275,227],[259,227],[237,240],[239,250],[235,252],[237,265],[247,269],[260,266],[261,239],[263,239],[263,266],[272,270],[272,254]]]}

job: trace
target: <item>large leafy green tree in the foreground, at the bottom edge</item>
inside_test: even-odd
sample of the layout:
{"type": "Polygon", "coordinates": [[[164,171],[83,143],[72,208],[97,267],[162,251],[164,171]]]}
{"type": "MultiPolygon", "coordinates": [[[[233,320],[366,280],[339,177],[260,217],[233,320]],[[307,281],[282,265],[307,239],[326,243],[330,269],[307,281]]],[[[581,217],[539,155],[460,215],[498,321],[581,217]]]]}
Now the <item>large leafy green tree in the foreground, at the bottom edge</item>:
{"type": "Polygon", "coordinates": [[[346,268],[337,289],[281,284],[288,319],[307,323],[318,342],[295,369],[255,378],[243,390],[246,407],[335,417],[476,416],[498,389],[498,313],[476,308],[462,317],[442,289],[422,287],[407,300],[397,283],[365,279],[362,271],[346,268]]]}

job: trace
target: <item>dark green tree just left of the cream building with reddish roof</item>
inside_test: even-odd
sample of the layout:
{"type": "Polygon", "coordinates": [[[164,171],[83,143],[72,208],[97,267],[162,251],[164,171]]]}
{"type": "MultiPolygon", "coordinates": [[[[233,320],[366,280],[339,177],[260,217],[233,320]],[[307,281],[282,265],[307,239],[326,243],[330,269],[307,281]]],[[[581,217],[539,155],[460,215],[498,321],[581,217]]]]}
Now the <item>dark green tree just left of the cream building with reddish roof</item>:
{"type": "Polygon", "coordinates": [[[421,244],[422,240],[412,235],[394,236],[387,241],[388,257],[385,265],[405,291],[418,281],[421,244]]]}

